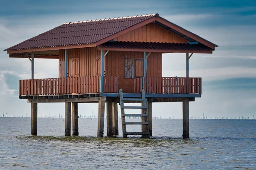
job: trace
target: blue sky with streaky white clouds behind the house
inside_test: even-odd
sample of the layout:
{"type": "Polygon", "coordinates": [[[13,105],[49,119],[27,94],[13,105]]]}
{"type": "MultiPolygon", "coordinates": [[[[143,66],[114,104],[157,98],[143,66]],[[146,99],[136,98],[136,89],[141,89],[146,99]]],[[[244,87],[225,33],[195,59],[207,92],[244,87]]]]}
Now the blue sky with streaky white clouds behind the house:
{"type": "MultiPolygon", "coordinates": [[[[64,22],[158,13],[219,45],[194,54],[190,77],[202,77],[202,97],[190,102],[190,117],[256,116],[256,2],[254,0],[8,0],[0,6],[0,115],[30,114],[18,99],[18,80],[29,79],[29,59],[9,58],[6,48],[64,22]]],[[[163,76],[185,77],[185,54],[163,54],[163,76]]],[[[35,79],[58,77],[57,59],[35,59],[35,79]]],[[[97,104],[79,104],[79,114],[97,114],[97,104]]],[[[64,116],[64,104],[38,104],[38,116],[64,116]]],[[[119,112],[120,114],[120,112],[119,112]]],[[[153,116],[182,118],[182,103],[154,103],[153,116]]]]}

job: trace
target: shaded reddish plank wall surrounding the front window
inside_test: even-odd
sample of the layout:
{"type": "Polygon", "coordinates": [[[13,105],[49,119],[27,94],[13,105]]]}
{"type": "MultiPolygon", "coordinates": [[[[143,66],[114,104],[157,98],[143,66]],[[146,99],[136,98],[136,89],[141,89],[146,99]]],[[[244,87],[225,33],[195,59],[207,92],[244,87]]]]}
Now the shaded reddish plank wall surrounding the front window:
{"type": "MultiPolygon", "coordinates": [[[[143,59],[143,52],[109,51],[106,56],[106,75],[119,76],[119,88],[124,93],[134,93],[134,79],[124,78],[124,59],[143,59]]],[[[147,77],[162,77],[162,54],[151,53],[147,59],[147,77]]]]}

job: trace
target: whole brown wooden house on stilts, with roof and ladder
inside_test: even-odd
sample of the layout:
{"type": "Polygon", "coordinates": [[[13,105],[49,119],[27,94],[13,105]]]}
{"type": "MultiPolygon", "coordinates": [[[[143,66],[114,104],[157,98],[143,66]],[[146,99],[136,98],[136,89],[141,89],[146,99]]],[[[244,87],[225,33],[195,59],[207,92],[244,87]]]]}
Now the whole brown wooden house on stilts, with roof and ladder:
{"type": "Polygon", "coordinates": [[[105,102],[107,136],[118,134],[117,107],[123,136],[152,136],[152,102],[183,102],[183,137],[189,137],[189,101],[201,97],[201,78],[189,77],[192,54],[212,54],[217,45],[160,17],[147,14],[63,23],[7,48],[12,58],[31,61],[31,79],[19,81],[20,99],[31,103],[31,134],[37,135],[37,104],[65,102],[65,135],[78,135],[78,103],[99,102],[98,136],[103,136],[105,102]],[[162,77],[162,54],[184,53],[186,77],[162,77]],[[186,56],[186,57],[185,57],[186,56]],[[34,59],[58,59],[59,77],[34,79],[34,59]],[[140,102],[142,106],[125,106],[140,102]],[[71,109],[72,105],[72,109],[71,109]],[[141,114],[125,114],[141,109],[141,114]],[[125,122],[141,116],[141,122],[125,122]],[[126,125],[141,132],[126,132],[126,125]]]}

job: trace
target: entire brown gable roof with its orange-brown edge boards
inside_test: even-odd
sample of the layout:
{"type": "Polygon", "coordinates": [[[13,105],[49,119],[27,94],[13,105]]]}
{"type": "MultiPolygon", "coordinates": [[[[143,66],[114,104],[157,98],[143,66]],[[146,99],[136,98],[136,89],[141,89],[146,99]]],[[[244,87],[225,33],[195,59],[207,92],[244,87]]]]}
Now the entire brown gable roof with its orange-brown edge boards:
{"type": "Polygon", "coordinates": [[[201,42],[202,44],[207,45],[212,49],[217,47],[217,45],[213,44],[212,42],[209,42],[167,20],[164,20],[162,17],[159,17],[159,14],[147,14],[131,17],[118,17],[63,23],[61,26],[55,27],[49,31],[39,34],[38,36],[30,38],[29,40],[25,40],[17,45],[7,48],[5,51],[8,51],[8,53],[15,53],[16,51],[18,52],[21,50],[23,52],[30,52],[64,49],[64,47],[92,47],[100,45],[113,39],[113,37],[117,37],[128,31],[152,22],[158,22],[167,28],[169,28],[168,25],[177,27],[179,31],[177,31],[175,28],[169,30],[176,31],[176,34],[185,37],[189,41],[199,40],[198,42],[201,42]],[[180,30],[183,32],[180,33],[180,30]],[[191,36],[188,36],[184,33],[187,33],[191,36]]]}

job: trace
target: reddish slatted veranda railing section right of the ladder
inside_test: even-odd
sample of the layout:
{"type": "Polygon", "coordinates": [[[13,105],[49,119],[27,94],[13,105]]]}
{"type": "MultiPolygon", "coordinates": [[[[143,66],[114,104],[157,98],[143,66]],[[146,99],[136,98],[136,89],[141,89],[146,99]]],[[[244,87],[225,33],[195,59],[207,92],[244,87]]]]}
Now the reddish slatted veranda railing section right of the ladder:
{"type": "Polygon", "coordinates": [[[134,79],[134,93],[201,94],[202,78],[141,77],[134,79]]]}

